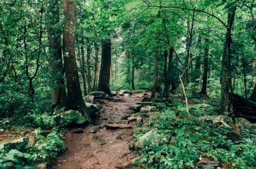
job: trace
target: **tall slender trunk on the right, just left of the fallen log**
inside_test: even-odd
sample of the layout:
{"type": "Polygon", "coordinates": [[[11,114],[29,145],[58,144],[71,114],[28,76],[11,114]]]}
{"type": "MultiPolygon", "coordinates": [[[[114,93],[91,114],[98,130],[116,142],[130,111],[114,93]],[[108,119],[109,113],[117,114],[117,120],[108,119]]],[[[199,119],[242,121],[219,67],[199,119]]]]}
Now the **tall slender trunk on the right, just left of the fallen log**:
{"type": "Polygon", "coordinates": [[[230,110],[229,109],[229,90],[231,87],[231,75],[230,75],[230,58],[231,58],[231,43],[232,43],[231,28],[234,21],[234,14],[235,14],[235,10],[232,13],[228,13],[228,29],[227,29],[226,41],[225,41],[224,52],[222,57],[221,101],[220,101],[221,112],[228,112],[230,110]]]}

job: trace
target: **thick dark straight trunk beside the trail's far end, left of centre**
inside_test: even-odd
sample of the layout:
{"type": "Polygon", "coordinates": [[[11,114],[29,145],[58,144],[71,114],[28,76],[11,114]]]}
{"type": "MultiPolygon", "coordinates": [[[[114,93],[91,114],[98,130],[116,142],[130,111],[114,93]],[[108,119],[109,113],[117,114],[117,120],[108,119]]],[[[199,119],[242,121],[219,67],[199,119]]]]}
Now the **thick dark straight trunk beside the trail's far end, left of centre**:
{"type": "Polygon", "coordinates": [[[101,45],[101,65],[98,91],[105,92],[112,97],[110,92],[111,39],[102,40],[101,45]]]}

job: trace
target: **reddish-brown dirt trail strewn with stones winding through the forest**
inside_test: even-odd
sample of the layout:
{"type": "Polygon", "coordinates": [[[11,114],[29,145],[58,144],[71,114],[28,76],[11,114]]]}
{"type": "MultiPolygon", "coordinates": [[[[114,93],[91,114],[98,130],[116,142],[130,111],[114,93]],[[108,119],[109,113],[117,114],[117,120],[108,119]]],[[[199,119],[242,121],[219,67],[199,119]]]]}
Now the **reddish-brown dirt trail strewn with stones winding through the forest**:
{"type": "MultiPolygon", "coordinates": [[[[141,93],[133,94],[130,98],[114,97],[119,101],[95,101],[102,106],[100,118],[96,121],[96,125],[117,123],[133,114],[134,111],[131,109],[133,103],[142,100],[139,95],[141,93]]],[[[145,120],[143,122],[145,123],[145,120]]],[[[90,132],[93,129],[90,126],[70,130],[65,139],[67,150],[52,161],[52,168],[59,168],[63,164],[67,165],[66,168],[76,168],[75,165],[79,164],[81,168],[111,169],[121,162],[138,157],[139,154],[129,150],[129,143],[134,138],[133,131],[138,128],[138,125],[136,121],[131,121],[129,125],[132,128],[106,129],[103,127],[96,133],[90,132]],[[72,164],[69,165],[68,163],[72,164]]]]}

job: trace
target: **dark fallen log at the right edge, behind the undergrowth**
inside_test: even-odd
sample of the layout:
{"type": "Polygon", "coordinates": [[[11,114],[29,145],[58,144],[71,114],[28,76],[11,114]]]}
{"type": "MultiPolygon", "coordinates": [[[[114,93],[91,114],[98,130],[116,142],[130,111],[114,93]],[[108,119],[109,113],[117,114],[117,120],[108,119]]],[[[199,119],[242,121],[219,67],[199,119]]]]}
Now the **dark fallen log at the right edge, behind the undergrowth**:
{"type": "Polygon", "coordinates": [[[233,112],[236,118],[245,118],[256,123],[256,102],[233,94],[233,112]]]}

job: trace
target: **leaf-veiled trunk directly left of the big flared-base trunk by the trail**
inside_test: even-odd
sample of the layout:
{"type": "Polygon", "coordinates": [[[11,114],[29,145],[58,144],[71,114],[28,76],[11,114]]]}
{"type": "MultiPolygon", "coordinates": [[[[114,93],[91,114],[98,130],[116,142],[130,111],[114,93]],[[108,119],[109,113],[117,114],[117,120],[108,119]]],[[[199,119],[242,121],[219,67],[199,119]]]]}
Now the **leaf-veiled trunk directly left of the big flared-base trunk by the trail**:
{"type": "Polygon", "coordinates": [[[51,68],[51,85],[53,108],[57,110],[66,106],[66,88],[63,78],[61,30],[56,29],[59,22],[58,4],[51,4],[49,11],[52,16],[49,19],[48,42],[49,42],[49,64],[51,68]]]}

